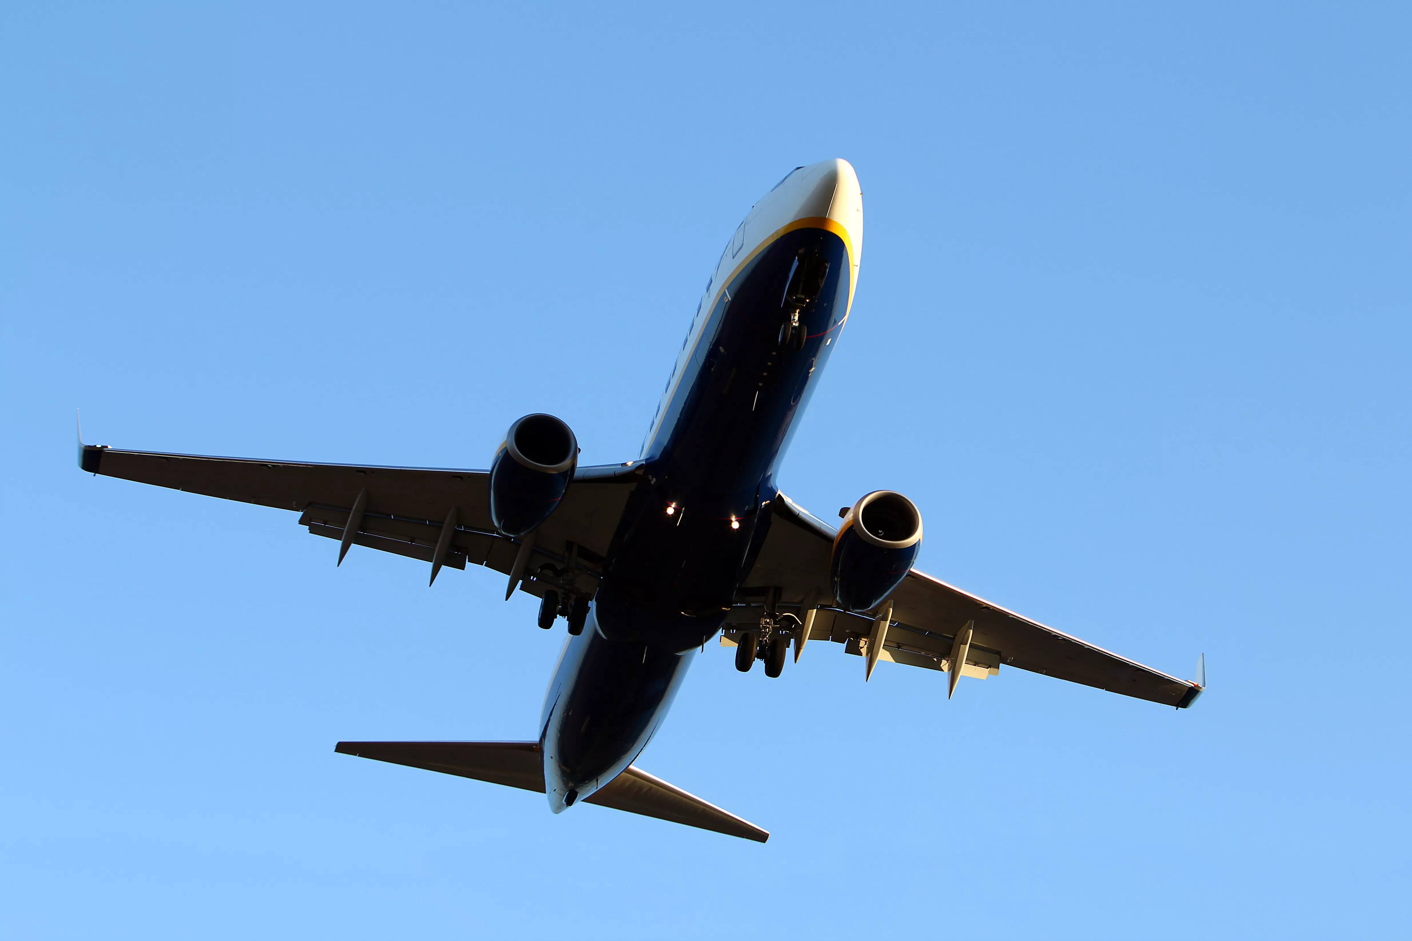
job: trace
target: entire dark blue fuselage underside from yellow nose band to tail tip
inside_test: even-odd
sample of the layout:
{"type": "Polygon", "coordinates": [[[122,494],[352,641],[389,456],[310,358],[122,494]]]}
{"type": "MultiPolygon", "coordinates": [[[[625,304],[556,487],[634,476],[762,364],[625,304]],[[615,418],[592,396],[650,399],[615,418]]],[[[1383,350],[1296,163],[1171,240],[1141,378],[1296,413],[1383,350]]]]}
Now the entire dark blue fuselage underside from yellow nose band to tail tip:
{"type": "Polygon", "coordinates": [[[849,292],[843,240],[795,229],[741,267],[706,312],[675,389],[668,385],[587,629],[569,639],[545,698],[541,743],[555,810],[637,758],[693,653],[724,622],[770,528],[775,470],[837,344],[849,292]],[[786,296],[795,274],[820,262],[822,288],[799,309],[798,295],[786,296]],[[802,348],[782,341],[796,309],[802,348]]]}

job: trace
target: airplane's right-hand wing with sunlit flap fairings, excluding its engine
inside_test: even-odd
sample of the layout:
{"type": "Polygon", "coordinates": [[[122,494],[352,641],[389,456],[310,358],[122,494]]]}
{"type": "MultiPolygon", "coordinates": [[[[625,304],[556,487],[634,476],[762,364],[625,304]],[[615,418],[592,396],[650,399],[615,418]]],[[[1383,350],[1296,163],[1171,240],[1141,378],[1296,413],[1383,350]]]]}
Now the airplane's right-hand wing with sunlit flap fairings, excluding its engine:
{"type": "MultiPolygon", "coordinates": [[[[802,612],[810,601],[822,605],[805,641],[834,641],[849,653],[863,653],[873,618],[829,607],[834,528],[784,494],[772,504],[770,530],[727,618],[723,643],[733,643],[741,631],[760,624],[764,594],[778,587],[782,612],[802,612]]],[[[796,657],[798,652],[799,646],[796,657]]],[[[878,659],[950,672],[955,653],[963,660],[962,676],[984,679],[1001,666],[1014,666],[1178,708],[1196,701],[1203,688],[914,569],[892,594],[891,624],[878,659]]]]}

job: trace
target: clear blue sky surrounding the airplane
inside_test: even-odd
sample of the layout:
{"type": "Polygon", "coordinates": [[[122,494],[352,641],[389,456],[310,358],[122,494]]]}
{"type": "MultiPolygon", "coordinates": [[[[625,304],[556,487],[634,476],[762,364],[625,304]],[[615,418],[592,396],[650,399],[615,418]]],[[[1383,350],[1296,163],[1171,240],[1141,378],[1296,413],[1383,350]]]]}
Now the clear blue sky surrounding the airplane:
{"type": "Polygon", "coordinates": [[[0,935],[1405,938],[1405,4],[10,4],[0,935]],[[193,8],[195,7],[195,8],[193,8]],[[768,845],[335,755],[532,738],[503,577],[90,442],[634,457],[703,282],[844,157],[789,453],[921,567],[1210,691],[707,649],[642,766],[768,845]]]}

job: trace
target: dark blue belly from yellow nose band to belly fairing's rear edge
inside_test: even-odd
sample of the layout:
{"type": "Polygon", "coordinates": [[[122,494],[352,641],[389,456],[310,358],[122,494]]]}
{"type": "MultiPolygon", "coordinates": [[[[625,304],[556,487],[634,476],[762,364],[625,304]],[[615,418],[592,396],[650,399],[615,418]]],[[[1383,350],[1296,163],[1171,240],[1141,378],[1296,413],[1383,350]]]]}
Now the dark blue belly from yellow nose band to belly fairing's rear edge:
{"type": "Polygon", "coordinates": [[[785,233],[722,292],[610,545],[606,636],[683,650],[714,635],[847,305],[847,248],[826,229],[785,233]],[[791,295],[801,260],[819,274],[805,303],[791,295]]]}

